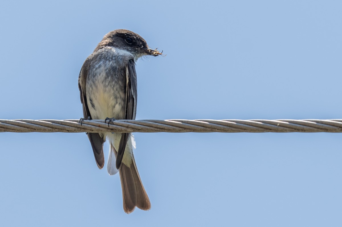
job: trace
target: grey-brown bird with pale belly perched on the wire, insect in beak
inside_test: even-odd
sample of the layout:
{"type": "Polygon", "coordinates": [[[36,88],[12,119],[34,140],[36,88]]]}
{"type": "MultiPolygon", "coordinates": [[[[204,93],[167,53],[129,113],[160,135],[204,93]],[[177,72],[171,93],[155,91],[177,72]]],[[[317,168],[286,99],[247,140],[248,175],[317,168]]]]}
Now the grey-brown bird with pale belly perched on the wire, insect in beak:
{"type": "MultiPolygon", "coordinates": [[[[108,124],[118,119],[135,120],[137,103],[136,61],[143,56],[159,56],[138,34],[117,29],[108,32],[84,61],[78,77],[83,106],[81,120],[100,119],[108,124]]],[[[104,167],[103,144],[109,141],[107,171],[119,172],[123,210],[126,213],[151,208],[133,155],[131,133],[87,133],[98,168],[104,167]]]]}

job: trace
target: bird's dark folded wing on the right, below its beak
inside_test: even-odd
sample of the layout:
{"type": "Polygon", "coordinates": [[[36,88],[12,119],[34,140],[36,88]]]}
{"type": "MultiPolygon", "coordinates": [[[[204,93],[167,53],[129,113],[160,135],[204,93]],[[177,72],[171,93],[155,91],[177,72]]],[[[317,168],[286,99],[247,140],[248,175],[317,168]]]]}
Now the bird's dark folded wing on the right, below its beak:
{"type": "MultiPolygon", "coordinates": [[[[126,111],[125,119],[134,120],[136,115],[136,99],[137,99],[137,86],[136,86],[136,71],[133,59],[129,60],[126,69],[126,111]]],[[[119,143],[118,153],[116,155],[116,168],[121,166],[123,154],[126,148],[127,140],[131,133],[122,133],[119,143]]]]}

